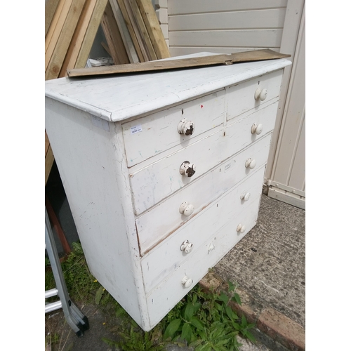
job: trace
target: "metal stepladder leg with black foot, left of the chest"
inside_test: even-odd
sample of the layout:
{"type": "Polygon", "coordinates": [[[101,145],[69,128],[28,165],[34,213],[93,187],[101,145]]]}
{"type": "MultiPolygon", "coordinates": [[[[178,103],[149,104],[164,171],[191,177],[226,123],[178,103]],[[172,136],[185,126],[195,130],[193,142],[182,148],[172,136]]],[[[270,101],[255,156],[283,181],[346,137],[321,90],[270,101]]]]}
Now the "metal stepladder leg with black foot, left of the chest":
{"type": "Polygon", "coordinates": [[[58,310],[62,308],[65,319],[77,336],[83,336],[84,331],[89,329],[88,318],[81,313],[79,308],[72,303],[69,298],[65,279],[63,277],[62,268],[60,264],[60,258],[58,257],[58,251],[53,237],[53,231],[51,230],[50,220],[48,213],[45,208],[45,246],[48,253],[48,258],[51,263],[53,270],[53,277],[55,279],[56,288],[45,291],[45,300],[52,296],[58,296],[60,300],[53,303],[45,303],[45,313],[58,310]]]}

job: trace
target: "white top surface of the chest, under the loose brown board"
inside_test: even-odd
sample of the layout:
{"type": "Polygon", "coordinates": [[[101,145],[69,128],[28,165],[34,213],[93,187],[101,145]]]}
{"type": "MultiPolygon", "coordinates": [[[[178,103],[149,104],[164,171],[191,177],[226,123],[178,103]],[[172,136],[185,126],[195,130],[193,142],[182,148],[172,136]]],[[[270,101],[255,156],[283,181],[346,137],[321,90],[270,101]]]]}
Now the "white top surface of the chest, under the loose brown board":
{"type": "Polygon", "coordinates": [[[52,79],[45,83],[45,95],[107,121],[122,121],[290,64],[279,59],[150,74],[52,79]]]}

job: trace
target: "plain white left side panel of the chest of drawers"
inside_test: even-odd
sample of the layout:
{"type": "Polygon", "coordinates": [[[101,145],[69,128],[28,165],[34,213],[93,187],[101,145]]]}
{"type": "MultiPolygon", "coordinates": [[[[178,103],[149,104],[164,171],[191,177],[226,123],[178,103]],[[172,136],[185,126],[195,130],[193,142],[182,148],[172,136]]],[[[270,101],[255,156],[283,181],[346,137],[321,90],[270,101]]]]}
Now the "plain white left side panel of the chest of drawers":
{"type": "Polygon", "coordinates": [[[120,127],[48,98],[45,107],[46,132],[89,270],[135,322],[148,325],[128,171],[117,152],[123,150],[120,127]]]}

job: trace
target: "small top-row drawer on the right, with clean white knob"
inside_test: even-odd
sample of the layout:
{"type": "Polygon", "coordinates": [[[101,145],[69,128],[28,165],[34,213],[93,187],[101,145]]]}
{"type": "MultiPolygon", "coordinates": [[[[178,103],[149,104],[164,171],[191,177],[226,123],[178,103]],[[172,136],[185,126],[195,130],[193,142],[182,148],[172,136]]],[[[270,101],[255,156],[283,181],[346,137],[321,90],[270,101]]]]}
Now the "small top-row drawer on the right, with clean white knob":
{"type": "Polygon", "coordinates": [[[265,74],[228,88],[227,119],[233,119],[244,112],[272,102],[280,93],[283,70],[265,74]]]}

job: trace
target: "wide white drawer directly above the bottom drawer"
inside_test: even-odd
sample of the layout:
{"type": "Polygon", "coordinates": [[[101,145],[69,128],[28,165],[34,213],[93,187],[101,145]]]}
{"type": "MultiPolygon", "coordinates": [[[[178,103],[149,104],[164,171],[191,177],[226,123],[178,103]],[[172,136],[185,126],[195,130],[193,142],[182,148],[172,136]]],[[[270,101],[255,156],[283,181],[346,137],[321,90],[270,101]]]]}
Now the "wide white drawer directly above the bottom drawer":
{"type": "Polygon", "coordinates": [[[220,227],[251,206],[262,192],[264,172],[265,167],[261,167],[147,253],[141,261],[145,291],[157,286],[184,260],[192,257],[220,227]],[[244,194],[247,199],[241,199],[244,194]]]}

